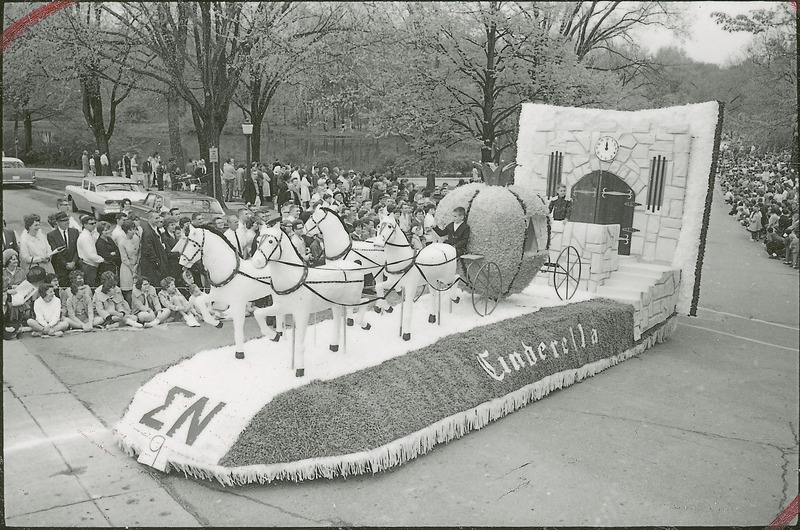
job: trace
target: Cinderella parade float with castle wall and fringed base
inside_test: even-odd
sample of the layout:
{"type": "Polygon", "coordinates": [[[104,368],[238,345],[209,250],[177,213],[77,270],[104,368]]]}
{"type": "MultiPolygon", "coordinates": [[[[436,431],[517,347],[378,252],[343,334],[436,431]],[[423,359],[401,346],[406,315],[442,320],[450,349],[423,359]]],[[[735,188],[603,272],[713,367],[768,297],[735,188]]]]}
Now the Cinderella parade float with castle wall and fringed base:
{"type": "MultiPolygon", "coordinates": [[[[313,314],[303,374],[291,327],[282,338],[262,327],[265,337],[243,342],[237,332],[233,346],[187,352],[136,392],[115,428],[120,445],[143,465],[226,485],[375,473],[640,354],[696,309],[721,122],[716,102],[639,112],[523,105],[514,185],[488,185],[505,184],[499,172],[453,190],[436,212],[444,226],[463,206],[473,230],[460,303],[449,266],[436,278],[425,272],[449,263],[445,250],[438,262],[389,257],[405,248],[389,222],[376,242],[383,257],[353,260],[352,245],[328,242],[339,229],[321,228],[335,217],[315,213],[306,228],[338,245],[350,263],[342,274],[383,267],[391,292],[417,270],[425,294],[411,282],[399,310],[362,312],[366,321],[350,328],[342,308],[381,301],[348,298],[335,319],[313,314]],[[573,215],[552,223],[547,248],[544,198],[561,182],[573,215]],[[482,303],[465,303],[476,293],[482,303]]],[[[270,260],[285,259],[276,249],[291,254],[271,237],[263,262],[218,264],[218,283],[243,269],[262,280],[245,298],[271,292],[280,305],[288,287],[312,292],[309,271],[265,285],[270,260]]]]}

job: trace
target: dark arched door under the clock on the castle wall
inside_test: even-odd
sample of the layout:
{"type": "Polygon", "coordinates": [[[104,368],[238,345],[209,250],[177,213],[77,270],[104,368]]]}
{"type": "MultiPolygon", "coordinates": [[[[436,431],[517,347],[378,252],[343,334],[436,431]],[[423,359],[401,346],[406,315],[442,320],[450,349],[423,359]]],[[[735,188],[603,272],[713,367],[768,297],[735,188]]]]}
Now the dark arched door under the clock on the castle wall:
{"type": "Polygon", "coordinates": [[[570,221],[600,225],[620,225],[618,251],[631,253],[633,209],[636,194],[625,181],[609,171],[593,171],[572,187],[570,221]]]}

